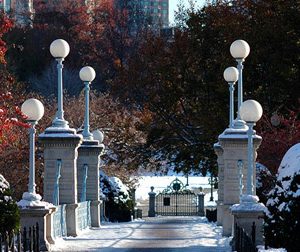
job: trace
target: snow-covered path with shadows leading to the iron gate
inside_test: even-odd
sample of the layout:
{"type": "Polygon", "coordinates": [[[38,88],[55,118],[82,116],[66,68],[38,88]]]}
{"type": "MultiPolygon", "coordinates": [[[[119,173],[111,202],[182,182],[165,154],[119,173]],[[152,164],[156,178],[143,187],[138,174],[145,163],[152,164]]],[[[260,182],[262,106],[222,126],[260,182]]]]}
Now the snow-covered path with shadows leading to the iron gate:
{"type": "Polygon", "coordinates": [[[204,217],[158,217],[107,223],[58,242],[55,251],[229,252],[229,238],[204,217]]]}

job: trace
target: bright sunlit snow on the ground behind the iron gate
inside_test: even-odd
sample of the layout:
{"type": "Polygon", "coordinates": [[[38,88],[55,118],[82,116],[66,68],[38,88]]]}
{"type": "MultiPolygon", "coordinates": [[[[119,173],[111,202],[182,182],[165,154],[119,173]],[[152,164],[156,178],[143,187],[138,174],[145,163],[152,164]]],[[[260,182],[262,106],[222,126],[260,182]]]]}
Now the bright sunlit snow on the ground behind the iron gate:
{"type": "MultiPolygon", "coordinates": [[[[187,182],[186,177],[180,176],[141,176],[138,180],[138,187],[136,188],[135,197],[137,202],[147,200],[149,198],[148,193],[151,191],[150,187],[154,186],[154,192],[159,193],[163,191],[171,182],[178,178],[184,185],[187,182]]],[[[189,176],[188,189],[198,189],[202,187],[203,189],[210,188],[208,183],[209,177],[199,177],[199,176],[189,176]]],[[[214,201],[218,200],[217,191],[213,192],[214,201]]],[[[209,202],[210,193],[206,193],[204,196],[204,204],[205,206],[215,205],[215,203],[209,202]]]]}

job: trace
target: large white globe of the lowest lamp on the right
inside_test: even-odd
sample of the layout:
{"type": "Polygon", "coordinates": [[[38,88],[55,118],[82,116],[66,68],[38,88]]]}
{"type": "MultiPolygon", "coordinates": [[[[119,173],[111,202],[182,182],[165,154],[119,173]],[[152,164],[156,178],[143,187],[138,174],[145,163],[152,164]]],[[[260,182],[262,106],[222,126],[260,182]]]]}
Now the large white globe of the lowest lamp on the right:
{"type": "Polygon", "coordinates": [[[242,103],[239,112],[242,120],[256,123],[261,118],[263,110],[257,101],[247,100],[242,103]]]}

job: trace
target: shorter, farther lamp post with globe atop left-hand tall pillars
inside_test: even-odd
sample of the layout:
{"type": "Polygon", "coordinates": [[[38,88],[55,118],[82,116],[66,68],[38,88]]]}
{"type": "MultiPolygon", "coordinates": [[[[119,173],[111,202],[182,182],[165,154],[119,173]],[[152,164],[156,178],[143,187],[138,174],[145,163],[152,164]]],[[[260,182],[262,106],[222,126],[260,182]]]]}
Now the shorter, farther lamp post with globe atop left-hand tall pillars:
{"type": "Polygon", "coordinates": [[[93,134],[90,132],[90,116],[89,116],[89,106],[90,106],[90,84],[95,79],[96,73],[94,68],[86,66],[81,68],[79,72],[79,77],[84,83],[84,94],[85,94],[85,113],[84,113],[84,129],[82,132],[83,139],[92,140],[93,134]]]}

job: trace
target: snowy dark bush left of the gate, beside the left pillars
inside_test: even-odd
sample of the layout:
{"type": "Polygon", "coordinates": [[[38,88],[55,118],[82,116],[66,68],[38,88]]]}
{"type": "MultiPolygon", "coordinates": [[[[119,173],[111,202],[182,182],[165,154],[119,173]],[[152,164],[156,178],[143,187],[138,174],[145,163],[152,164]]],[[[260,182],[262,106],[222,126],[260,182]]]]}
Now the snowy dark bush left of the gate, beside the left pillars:
{"type": "Polygon", "coordinates": [[[133,201],[129,188],[117,177],[100,172],[100,197],[105,200],[105,213],[110,221],[129,221],[133,201]]]}

